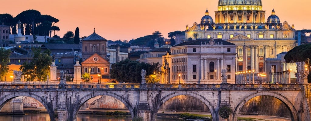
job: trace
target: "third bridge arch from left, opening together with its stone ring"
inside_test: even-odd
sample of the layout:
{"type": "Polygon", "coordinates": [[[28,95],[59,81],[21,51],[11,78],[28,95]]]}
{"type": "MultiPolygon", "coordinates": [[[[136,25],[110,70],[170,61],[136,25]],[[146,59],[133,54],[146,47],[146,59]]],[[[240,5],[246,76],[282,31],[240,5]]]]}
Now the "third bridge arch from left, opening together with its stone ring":
{"type": "Polygon", "coordinates": [[[185,112],[207,115],[207,117],[210,117],[208,119],[211,120],[218,119],[214,107],[205,97],[187,91],[174,92],[162,97],[154,111],[156,112],[152,115],[154,119],[157,119],[157,115],[162,116],[167,113],[182,114],[185,112]]]}

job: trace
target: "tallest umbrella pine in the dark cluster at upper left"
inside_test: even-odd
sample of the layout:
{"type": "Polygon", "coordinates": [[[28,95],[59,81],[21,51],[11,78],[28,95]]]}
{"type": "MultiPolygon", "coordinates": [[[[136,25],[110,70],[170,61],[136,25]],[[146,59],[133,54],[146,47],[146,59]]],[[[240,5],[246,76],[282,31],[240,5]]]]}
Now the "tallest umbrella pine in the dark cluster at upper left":
{"type": "Polygon", "coordinates": [[[37,10],[26,10],[16,15],[16,18],[22,23],[31,25],[33,35],[35,35],[35,25],[39,23],[40,17],[41,13],[37,10]]]}

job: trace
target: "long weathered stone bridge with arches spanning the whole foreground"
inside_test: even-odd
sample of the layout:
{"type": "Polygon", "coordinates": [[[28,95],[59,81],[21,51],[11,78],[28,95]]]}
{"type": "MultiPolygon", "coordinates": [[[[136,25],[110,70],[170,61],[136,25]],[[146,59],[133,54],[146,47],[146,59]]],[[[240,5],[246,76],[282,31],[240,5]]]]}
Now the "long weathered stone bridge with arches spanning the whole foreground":
{"type": "Polygon", "coordinates": [[[228,121],[237,121],[240,109],[253,97],[267,95],[281,100],[290,110],[292,121],[310,121],[309,84],[41,84],[0,85],[0,108],[14,97],[28,96],[41,102],[51,120],[75,121],[87,100],[99,95],[124,103],[132,117],[155,121],[160,106],[172,97],[187,95],[201,100],[213,121],[223,121],[221,106],[232,109],[228,121]]]}

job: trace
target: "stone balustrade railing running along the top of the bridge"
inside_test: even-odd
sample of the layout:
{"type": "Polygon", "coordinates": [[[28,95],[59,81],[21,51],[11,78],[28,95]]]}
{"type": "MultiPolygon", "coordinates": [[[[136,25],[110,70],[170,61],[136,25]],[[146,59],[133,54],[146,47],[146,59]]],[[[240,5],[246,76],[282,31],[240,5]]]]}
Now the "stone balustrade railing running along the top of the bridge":
{"type": "Polygon", "coordinates": [[[304,84],[9,84],[0,89],[244,89],[244,88],[303,88],[304,84]]]}

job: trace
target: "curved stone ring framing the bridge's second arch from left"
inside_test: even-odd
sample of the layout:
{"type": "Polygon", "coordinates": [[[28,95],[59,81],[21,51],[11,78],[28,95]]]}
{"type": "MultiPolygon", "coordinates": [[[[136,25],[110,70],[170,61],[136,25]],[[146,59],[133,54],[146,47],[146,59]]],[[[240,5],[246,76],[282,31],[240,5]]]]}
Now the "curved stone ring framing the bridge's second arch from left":
{"type": "Polygon", "coordinates": [[[77,119],[77,114],[79,112],[79,109],[81,108],[81,106],[89,99],[96,97],[96,96],[100,96],[100,95],[105,95],[105,96],[111,96],[114,97],[116,99],[118,99],[119,101],[121,101],[130,111],[130,114],[132,116],[132,118],[135,116],[135,112],[134,109],[132,107],[132,105],[128,102],[128,100],[116,93],[112,93],[112,92],[107,92],[107,91],[93,91],[93,93],[90,93],[86,96],[84,96],[83,98],[81,98],[80,100],[77,101],[77,103],[75,104],[75,106],[73,107],[73,112],[69,113],[69,120],[71,121],[75,121],[77,119]]]}

